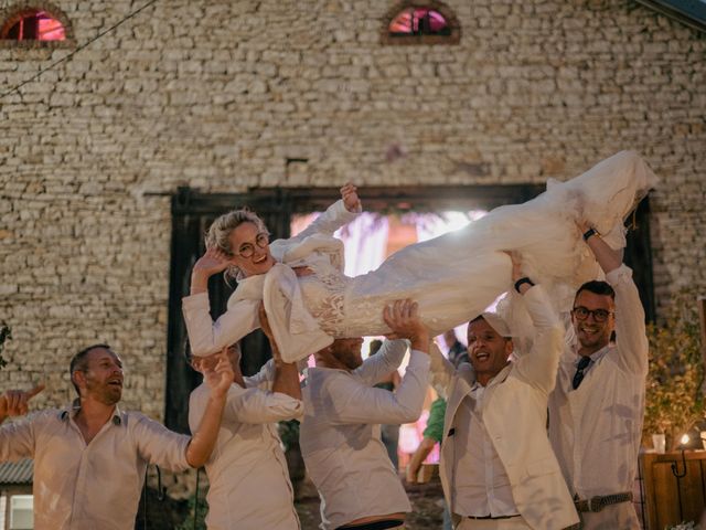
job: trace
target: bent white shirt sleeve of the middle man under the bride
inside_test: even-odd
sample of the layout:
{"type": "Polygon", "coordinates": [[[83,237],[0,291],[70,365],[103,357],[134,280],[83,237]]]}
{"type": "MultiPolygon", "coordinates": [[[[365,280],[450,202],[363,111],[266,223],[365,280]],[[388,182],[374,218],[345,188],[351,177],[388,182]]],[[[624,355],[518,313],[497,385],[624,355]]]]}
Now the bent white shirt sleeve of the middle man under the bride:
{"type": "Polygon", "coordinates": [[[419,417],[428,384],[429,356],[411,350],[405,377],[395,392],[366,386],[350,377],[331,378],[327,385],[339,424],[396,424],[419,417]]]}

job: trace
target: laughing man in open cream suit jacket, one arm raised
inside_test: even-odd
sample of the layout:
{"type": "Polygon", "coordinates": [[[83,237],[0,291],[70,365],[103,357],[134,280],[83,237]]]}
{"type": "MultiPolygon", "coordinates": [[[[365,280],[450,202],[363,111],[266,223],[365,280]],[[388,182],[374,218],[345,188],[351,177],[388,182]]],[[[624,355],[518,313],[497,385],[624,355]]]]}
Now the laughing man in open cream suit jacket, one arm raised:
{"type": "Polygon", "coordinates": [[[484,312],[468,327],[469,363],[432,350],[435,386],[447,395],[439,465],[456,528],[559,530],[578,522],[546,434],[564,330],[542,286],[513,280],[534,324],[532,349],[512,362],[505,321],[484,312]]]}

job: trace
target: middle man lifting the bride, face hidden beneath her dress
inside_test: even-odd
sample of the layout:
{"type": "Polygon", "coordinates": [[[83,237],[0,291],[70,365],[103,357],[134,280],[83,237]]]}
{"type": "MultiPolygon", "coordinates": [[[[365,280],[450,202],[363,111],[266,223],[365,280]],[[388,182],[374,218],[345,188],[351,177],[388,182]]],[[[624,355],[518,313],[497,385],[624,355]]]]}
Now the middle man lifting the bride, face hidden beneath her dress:
{"type": "Polygon", "coordinates": [[[429,331],[411,300],[384,311],[394,338],[408,339],[411,354],[397,390],[373,385],[397,369],[404,340],[385,341],[361,358],[362,339],[336,339],[314,353],[303,389],[300,445],[307,470],[321,496],[321,527],[383,530],[404,524],[411,510],[397,470],[381,442],[379,424],[419,417],[429,371],[429,331]]]}

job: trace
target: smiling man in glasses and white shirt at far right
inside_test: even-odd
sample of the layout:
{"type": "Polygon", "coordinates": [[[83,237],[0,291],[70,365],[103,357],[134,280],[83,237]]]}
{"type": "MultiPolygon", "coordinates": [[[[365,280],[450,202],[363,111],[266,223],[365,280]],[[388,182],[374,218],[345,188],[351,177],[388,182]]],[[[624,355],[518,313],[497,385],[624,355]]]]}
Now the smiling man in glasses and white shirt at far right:
{"type": "Polygon", "coordinates": [[[581,229],[606,282],[588,282],[576,294],[576,340],[549,398],[549,438],[584,528],[639,529],[632,486],[648,374],[644,310],[621,252],[581,229]]]}

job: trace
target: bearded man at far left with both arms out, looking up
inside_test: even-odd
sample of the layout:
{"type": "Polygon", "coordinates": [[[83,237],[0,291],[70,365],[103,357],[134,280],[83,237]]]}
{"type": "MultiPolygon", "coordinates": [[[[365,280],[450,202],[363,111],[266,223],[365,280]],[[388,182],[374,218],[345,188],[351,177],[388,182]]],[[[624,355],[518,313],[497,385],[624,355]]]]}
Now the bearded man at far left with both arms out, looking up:
{"type": "MultiPolygon", "coordinates": [[[[132,529],[148,464],[184,470],[211,455],[233,371],[223,358],[208,372],[207,411],[189,437],[119,409],[122,361],[108,346],[82,350],[69,370],[78,399],[0,427],[0,460],[34,458],[36,530],[132,529]]],[[[6,392],[0,423],[26,414],[41,390],[6,392]]]]}

